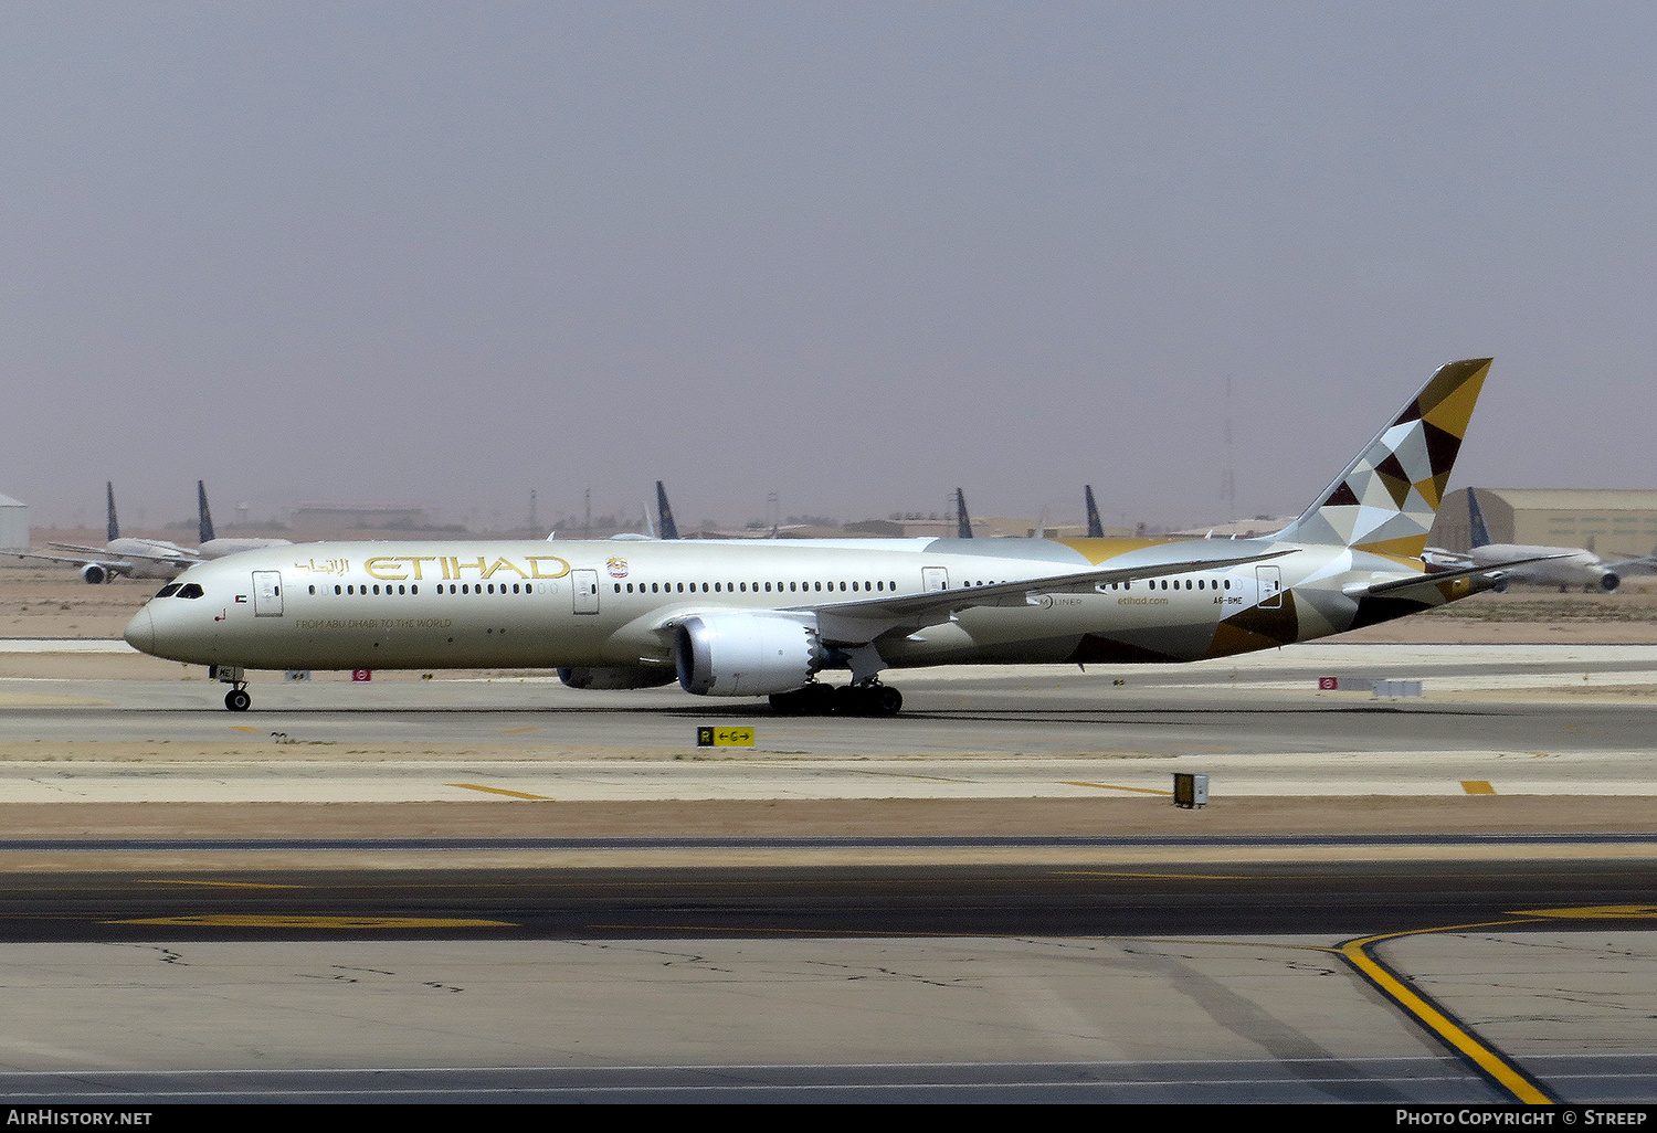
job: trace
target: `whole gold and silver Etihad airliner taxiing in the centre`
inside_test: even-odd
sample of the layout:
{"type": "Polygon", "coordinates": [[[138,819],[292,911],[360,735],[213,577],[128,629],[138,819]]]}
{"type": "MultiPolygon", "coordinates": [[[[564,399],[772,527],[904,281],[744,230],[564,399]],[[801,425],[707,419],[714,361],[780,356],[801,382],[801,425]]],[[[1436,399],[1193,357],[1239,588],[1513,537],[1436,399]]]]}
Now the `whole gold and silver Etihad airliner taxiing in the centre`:
{"type": "Polygon", "coordinates": [[[138,649],[247,669],[555,668],[779,712],[893,714],[930,664],[1196,661],[1440,606],[1500,565],[1428,571],[1488,358],[1443,366],[1306,512],[1244,540],[868,538],[313,543],[186,570],[138,649]],[[822,674],[843,671],[847,684],[822,674]]]}

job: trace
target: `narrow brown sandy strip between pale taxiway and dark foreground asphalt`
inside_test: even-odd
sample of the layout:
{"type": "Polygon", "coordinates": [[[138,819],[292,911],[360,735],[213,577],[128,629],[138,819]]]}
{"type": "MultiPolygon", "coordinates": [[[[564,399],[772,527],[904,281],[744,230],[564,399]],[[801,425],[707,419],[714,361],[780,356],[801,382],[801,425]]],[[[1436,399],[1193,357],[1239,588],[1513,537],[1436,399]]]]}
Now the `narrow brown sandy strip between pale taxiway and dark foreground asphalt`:
{"type": "MultiPolygon", "coordinates": [[[[7,838],[179,838],[174,807],[0,803],[7,838]]],[[[706,802],[196,803],[191,838],[717,838],[1650,833],[1650,798],[1468,795],[1226,798],[828,798],[706,802]]]]}

